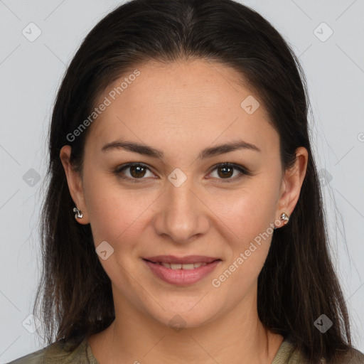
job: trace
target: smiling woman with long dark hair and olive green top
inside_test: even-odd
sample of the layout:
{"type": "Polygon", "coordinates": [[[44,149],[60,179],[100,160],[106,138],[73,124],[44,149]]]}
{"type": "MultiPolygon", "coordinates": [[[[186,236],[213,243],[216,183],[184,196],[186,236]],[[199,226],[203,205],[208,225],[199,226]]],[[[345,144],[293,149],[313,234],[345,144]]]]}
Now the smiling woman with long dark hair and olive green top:
{"type": "Polygon", "coordinates": [[[294,53],[246,6],[134,0],[103,18],[50,127],[49,345],[13,363],[364,363],[308,107],[294,53]]]}

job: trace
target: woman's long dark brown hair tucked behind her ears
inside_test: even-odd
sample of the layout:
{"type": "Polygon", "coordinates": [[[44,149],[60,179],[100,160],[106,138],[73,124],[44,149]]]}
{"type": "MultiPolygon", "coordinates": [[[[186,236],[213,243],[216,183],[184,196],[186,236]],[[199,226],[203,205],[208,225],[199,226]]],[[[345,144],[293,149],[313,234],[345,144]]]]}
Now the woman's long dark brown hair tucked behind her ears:
{"type": "Polygon", "coordinates": [[[204,59],[237,70],[255,90],[277,130],[284,169],[295,151],[309,152],[306,176],[289,224],[274,230],[258,278],[257,310],[266,328],[291,336],[310,361],[334,363],[351,347],[348,312],[328,253],[323,200],[309,140],[309,98],[299,60],[257,12],[231,0],[134,0],[118,6],[90,31],[58,91],[50,125],[49,184],[41,225],[43,275],[34,314],[41,309],[48,343],[80,340],[114,320],[111,282],[95,254],[89,225],[74,218],[60,149],[82,173],[88,129],[73,141],[105,88],[148,60],[204,59]],[[41,301],[42,299],[42,301],[41,301]],[[321,333],[314,321],[333,326],[321,333]]]}

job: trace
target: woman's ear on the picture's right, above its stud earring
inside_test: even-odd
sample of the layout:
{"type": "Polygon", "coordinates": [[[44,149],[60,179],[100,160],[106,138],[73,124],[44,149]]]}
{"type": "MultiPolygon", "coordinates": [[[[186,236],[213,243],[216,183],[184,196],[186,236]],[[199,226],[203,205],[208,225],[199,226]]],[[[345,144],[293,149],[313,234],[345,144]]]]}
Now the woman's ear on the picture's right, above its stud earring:
{"type": "Polygon", "coordinates": [[[282,213],[291,215],[299,200],[301,186],[306,176],[307,163],[309,161],[309,153],[306,148],[300,146],[296,149],[296,161],[294,166],[284,172],[282,180],[282,194],[279,198],[276,219],[282,213]]]}

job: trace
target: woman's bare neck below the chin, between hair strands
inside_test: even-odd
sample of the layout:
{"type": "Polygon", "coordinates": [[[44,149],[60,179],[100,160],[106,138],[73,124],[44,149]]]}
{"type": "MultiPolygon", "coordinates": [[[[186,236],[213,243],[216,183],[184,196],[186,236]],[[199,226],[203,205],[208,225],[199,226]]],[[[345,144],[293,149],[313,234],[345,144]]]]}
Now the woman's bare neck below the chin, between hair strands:
{"type": "Polygon", "coordinates": [[[191,364],[271,364],[283,341],[259,321],[256,296],[203,325],[181,328],[156,321],[120,297],[114,301],[115,320],[96,335],[98,341],[89,340],[102,364],[181,363],[181,358],[191,364]]]}

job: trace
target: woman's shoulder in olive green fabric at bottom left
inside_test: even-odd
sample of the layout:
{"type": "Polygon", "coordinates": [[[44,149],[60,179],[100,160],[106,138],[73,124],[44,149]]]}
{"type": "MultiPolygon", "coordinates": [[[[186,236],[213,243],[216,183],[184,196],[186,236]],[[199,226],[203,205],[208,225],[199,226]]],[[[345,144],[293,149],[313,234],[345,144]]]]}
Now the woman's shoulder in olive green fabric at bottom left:
{"type": "Polygon", "coordinates": [[[81,341],[73,350],[70,349],[71,344],[74,345],[74,341],[56,341],[41,350],[13,360],[8,364],[98,364],[90,358],[86,339],[81,341]]]}

